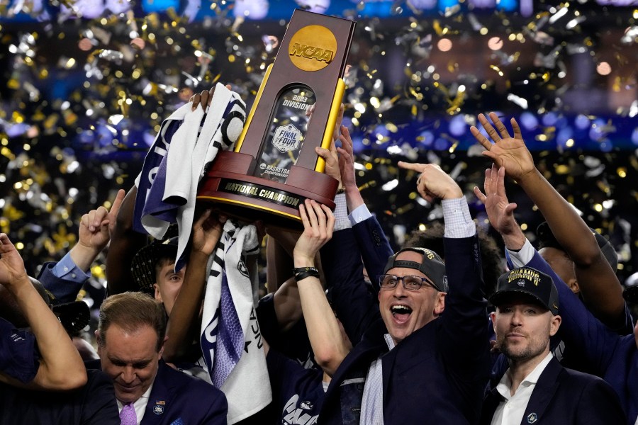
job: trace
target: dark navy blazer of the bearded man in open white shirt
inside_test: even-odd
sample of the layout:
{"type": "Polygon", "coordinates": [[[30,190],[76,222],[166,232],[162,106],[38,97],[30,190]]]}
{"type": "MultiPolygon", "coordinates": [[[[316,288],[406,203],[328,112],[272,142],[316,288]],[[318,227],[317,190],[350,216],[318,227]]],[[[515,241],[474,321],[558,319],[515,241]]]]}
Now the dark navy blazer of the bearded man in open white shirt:
{"type": "MultiPolygon", "coordinates": [[[[481,424],[489,425],[503,398],[496,390],[498,380],[491,381],[481,414],[481,424]]],[[[527,402],[520,425],[622,425],[625,413],[620,399],[604,380],[564,368],[556,358],[541,373],[527,402]]]]}

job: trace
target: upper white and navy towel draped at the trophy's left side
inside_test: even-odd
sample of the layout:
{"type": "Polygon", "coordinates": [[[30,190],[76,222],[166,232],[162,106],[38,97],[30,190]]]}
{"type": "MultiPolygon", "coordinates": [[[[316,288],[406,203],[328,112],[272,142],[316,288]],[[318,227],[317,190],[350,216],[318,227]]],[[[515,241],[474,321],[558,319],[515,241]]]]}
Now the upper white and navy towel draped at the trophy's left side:
{"type": "Polygon", "coordinates": [[[206,116],[200,107],[191,111],[190,103],[179,108],[164,120],[145,158],[135,181],[135,229],[163,239],[169,224],[177,222],[178,270],[191,235],[198,183],[219,150],[233,146],[245,117],[240,96],[218,83],[206,116]]]}

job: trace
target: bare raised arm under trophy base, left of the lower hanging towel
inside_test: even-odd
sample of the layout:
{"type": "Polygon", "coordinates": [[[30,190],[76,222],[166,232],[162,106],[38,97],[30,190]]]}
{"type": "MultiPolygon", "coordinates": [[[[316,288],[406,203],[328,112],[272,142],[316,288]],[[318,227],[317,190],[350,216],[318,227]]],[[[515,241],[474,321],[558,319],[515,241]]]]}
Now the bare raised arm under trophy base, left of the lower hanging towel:
{"type": "Polygon", "coordinates": [[[193,225],[189,263],[167,324],[168,339],[164,344],[166,361],[188,360],[184,356],[196,340],[201,324],[199,312],[206,289],[208,258],[219,242],[225,221],[226,217],[217,217],[211,210],[206,210],[193,225]]]}

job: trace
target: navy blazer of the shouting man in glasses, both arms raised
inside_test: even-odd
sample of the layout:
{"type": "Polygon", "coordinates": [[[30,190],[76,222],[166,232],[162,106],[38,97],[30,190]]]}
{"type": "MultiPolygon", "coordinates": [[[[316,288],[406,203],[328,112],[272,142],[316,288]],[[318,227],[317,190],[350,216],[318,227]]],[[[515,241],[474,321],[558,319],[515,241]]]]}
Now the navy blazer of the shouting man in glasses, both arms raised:
{"type": "MultiPolygon", "coordinates": [[[[366,373],[381,357],[386,424],[475,424],[491,363],[478,238],[445,239],[450,289],[444,313],[388,351],[376,295],[361,273],[357,239],[364,239],[354,232],[335,232],[321,251],[332,305],[356,345],[332,377],[318,423],[359,423],[366,373]]],[[[374,242],[360,246],[382,249],[374,242]]],[[[379,260],[376,269],[384,266],[379,260]]]]}

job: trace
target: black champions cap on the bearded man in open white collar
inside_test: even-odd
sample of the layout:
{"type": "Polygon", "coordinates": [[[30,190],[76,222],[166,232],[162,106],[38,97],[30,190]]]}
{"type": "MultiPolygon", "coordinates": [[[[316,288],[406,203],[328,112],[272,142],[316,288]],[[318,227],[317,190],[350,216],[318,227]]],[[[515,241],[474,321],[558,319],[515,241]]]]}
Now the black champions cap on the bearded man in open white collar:
{"type": "Polygon", "coordinates": [[[506,302],[509,296],[516,294],[529,295],[554,316],[559,312],[558,290],[554,280],[535,268],[514,268],[500,275],[496,292],[490,297],[490,302],[498,307],[506,302]]]}

